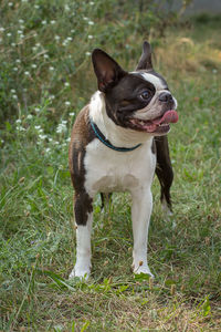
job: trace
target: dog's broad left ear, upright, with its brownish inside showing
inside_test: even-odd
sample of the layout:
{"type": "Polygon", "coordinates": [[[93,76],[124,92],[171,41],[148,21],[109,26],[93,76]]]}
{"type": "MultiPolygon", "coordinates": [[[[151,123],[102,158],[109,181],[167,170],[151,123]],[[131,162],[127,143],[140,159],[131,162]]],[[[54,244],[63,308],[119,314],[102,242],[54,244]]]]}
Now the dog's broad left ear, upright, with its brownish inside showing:
{"type": "Polygon", "coordinates": [[[109,87],[113,87],[123,76],[126,75],[126,72],[119,66],[119,64],[99,49],[95,49],[93,51],[92,62],[94,65],[94,72],[97,76],[98,90],[102,92],[107,92],[109,87]]]}

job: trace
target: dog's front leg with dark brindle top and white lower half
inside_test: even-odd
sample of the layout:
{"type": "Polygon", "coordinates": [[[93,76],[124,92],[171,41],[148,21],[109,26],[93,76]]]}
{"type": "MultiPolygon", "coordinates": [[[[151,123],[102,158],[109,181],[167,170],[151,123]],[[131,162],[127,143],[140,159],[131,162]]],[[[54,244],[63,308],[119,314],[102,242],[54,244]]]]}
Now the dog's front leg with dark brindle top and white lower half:
{"type": "Polygon", "coordinates": [[[76,263],[70,278],[88,278],[91,272],[92,198],[86,193],[75,195],[76,263]]]}

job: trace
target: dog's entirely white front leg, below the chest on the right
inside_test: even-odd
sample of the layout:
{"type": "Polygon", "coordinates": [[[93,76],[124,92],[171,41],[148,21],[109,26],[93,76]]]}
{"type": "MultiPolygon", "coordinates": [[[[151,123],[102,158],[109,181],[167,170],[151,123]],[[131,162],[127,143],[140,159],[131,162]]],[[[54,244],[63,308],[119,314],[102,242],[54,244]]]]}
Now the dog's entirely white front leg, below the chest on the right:
{"type": "Polygon", "coordinates": [[[149,219],[152,209],[152,196],[150,188],[139,188],[133,190],[133,235],[134,235],[134,250],[133,250],[133,270],[134,273],[146,273],[154,277],[147,263],[147,239],[149,219]]]}

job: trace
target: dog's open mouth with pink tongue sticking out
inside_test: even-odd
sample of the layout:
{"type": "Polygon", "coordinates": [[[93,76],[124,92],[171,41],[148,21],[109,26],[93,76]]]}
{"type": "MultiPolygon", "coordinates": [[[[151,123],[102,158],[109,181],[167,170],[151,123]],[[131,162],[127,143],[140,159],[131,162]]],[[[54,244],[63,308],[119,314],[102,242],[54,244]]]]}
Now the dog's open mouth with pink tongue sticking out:
{"type": "Polygon", "coordinates": [[[167,134],[170,129],[170,123],[178,122],[178,113],[173,110],[167,111],[162,116],[154,120],[130,118],[131,127],[150,134],[167,134]]]}

